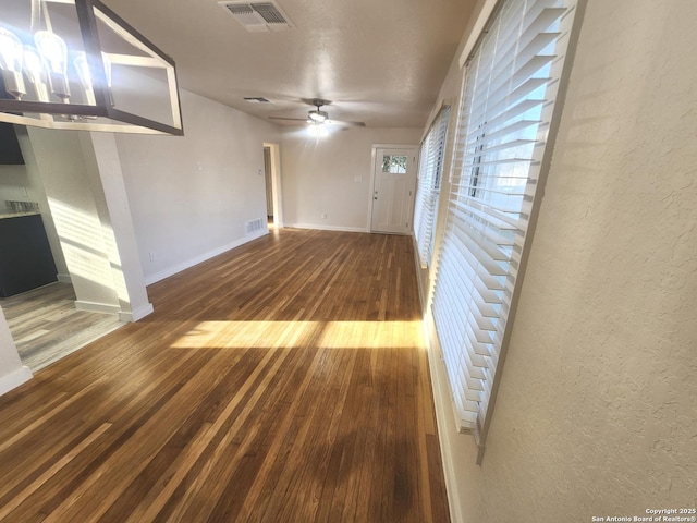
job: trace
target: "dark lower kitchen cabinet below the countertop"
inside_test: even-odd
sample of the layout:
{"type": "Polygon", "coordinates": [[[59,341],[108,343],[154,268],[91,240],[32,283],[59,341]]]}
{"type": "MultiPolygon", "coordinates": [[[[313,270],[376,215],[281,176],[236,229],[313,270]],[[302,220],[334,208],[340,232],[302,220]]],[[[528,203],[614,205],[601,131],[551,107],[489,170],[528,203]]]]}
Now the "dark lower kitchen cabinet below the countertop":
{"type": "Polygon", "coordinates": [[[0,297],[57,281],[40,215],[0,219],[0,297]]]}

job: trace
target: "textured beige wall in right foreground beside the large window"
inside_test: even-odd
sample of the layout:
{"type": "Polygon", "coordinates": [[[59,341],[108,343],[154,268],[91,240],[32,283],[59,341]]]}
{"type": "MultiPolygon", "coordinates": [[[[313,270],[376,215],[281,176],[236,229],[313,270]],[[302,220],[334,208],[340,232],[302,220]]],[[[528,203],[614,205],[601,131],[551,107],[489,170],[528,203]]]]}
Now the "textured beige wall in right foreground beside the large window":
{"type": "Polygon", "coordinates": [[[454,521],[697,506],[696,14],[588,1],[482,466],[438,399],[454,521]]]}

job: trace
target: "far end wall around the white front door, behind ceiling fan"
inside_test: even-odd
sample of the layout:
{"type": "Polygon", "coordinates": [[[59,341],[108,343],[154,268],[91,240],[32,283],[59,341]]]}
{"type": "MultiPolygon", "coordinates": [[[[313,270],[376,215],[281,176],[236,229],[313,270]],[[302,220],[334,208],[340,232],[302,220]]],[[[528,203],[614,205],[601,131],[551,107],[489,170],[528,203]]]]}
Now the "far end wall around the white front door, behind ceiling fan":
{"type": "Polygon", "coordinates": [[[420,135],[420,129],[351,127],[314,138],[305,127],[288,127],[281,153],[283,223],[369,230],[372,145],[418,145],[420,135]]]}

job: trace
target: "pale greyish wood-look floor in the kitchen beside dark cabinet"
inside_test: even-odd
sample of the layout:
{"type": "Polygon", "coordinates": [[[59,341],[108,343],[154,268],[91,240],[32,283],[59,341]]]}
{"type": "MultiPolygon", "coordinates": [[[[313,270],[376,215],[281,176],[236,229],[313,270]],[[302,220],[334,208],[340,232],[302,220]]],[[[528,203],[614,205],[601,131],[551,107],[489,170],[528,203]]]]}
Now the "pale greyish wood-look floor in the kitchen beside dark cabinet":
{"type": "Polygon", "coordinates": [[[75,308],[69,283],[50,285],[0,300],[22,363],[32,372],[57,362],[125,325],[118,316],[75,308]]]}

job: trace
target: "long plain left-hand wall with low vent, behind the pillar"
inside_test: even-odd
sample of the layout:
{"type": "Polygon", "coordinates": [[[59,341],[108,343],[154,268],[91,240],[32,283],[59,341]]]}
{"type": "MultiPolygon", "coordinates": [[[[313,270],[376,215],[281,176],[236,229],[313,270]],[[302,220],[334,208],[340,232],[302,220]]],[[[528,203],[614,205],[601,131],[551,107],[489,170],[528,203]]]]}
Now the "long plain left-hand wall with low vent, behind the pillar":
{"type": "Polygon", "coordinates": [[[266,232],[264,143],[274,125],[181,92],[183,137],[118,135],[117,144],[146,282],[151,283],[266,232]]]}

